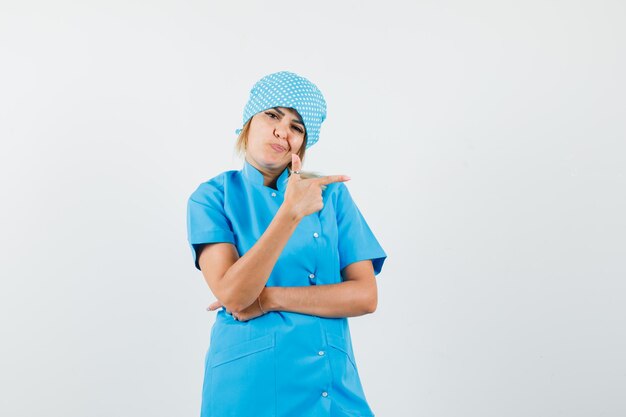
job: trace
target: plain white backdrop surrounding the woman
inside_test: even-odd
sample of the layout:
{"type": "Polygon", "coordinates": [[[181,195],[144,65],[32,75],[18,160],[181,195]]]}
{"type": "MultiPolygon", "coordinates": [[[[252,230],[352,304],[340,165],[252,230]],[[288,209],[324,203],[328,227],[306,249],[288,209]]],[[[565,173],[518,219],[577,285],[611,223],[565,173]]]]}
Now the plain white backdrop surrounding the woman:
{"type": "Polygon", "coordinates": [[[626,415],[622,1],[0,2],[0,415],[197,416],[186,202],[253,83],[328,103],[388,254],[351,318],[377,417],[626,415]]]}

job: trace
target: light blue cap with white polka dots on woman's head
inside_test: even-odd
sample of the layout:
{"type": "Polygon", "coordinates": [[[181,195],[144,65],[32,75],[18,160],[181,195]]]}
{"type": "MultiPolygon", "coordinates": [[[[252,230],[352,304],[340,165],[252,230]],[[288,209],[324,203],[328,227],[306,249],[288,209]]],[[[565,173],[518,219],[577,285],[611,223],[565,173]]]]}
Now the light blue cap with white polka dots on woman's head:
{"type": "MultiPolygon", "coordinates": [[[[307,133],[307,149],[319,140],[320,127],[326,119],[326,101],[311,81],[289,71],[261,78],[250,90],[242,125],[258,112],[272,107],[291,107],[300,113],[307,133]]],[[[237,135],[240,132],[241,129],[235,131],[237,135]]]]}

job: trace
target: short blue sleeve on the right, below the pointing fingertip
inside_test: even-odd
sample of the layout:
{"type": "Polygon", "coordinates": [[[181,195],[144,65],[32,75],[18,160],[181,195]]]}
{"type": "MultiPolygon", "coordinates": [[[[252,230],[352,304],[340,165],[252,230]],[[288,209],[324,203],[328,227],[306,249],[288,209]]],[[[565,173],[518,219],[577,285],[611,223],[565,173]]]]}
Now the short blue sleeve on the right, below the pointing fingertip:
{"type": "Polygon", "coordinates": [[[353,262],[370,259],[374,267],[374,275],[378,275],[387,254],[352,200],[348,187],[344,183],[338,185],[336,214],[339,268],[343,270],[353,262]]]}

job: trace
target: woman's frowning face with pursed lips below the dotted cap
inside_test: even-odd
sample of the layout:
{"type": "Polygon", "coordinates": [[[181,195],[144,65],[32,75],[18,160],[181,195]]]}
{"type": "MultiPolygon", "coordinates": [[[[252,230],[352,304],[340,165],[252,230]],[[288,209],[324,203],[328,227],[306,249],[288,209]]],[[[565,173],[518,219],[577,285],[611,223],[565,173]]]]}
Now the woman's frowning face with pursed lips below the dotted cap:
{"type": "Polygon", "coordinates": [[[263,110],[250,121],[246,159],[259,170],[280,173],[304,143],[304,124],[285,107],[263,110]]]}

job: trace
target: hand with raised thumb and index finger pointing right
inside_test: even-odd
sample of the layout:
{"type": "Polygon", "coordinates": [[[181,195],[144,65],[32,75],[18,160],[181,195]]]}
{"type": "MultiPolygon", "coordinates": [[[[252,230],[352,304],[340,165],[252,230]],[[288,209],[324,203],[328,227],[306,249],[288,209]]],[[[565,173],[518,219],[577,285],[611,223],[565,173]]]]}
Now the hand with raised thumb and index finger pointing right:
{"type": "MultiPolygon", "coordinates": [[[[291,168],[293,171],[300,171],[302,161],[300,157],[291,154],[291,168]]],[[[347,175],[327,175],[319,178],[300,178],[300,174],[291,173],[283,205],[296,216],[298,220],[309,214],[320,211],[324,207],[322,190],[324,185],[333,182],[344,182],[350,180],[347,175]]]]}

